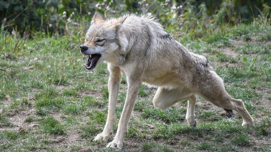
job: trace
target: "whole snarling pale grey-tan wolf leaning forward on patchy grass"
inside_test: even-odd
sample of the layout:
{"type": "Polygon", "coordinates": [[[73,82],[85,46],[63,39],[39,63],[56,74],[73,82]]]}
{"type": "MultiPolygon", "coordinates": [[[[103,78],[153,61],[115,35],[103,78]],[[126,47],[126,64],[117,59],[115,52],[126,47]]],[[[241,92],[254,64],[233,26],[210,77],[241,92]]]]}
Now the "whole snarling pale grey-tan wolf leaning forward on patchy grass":
{"type": "Polygon", "coordinates": [[[237,111],[243,118],[243,126],[253,125],[243,101],[228,94],[208,60],[189,52],[153,16],[126,14],[105,20],[96,12],[80,52],[86,56],[86,70],[106,62],[110,74],[107,121],[94,141],[107,142],[111,138],[122,74],[127,79],[127,96],[118,129],[107,147],[122,148],[142,84],[157,87],[153,104],[162,111],[188,100],[185,118],[191,127],[197,123],[194,113],[197,95],[230,113],[237,111]]]}

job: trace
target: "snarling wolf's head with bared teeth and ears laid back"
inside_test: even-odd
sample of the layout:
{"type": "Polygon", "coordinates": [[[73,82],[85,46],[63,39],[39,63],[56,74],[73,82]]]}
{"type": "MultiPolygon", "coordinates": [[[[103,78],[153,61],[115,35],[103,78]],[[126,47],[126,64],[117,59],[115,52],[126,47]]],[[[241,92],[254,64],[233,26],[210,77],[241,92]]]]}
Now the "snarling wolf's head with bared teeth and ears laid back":
{"type": "Polygon", "coordinates": [[[105,21],[98,12],[94,14],[85,44],[80,46],[80,52],[87,57],[85,69],[92,70],[102,61],[113,62],[115,51],[120,47],[118,30],[125,19],[105,21]]]}

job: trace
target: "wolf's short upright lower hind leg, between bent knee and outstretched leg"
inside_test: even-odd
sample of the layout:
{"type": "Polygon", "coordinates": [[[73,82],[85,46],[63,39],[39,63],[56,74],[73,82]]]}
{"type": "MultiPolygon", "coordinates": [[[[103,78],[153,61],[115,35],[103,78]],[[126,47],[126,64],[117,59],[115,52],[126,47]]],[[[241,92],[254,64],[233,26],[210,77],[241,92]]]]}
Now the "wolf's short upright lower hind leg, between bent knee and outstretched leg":
{"type": "Polygon", "coordinates": [[[191,127],[195,127],[197,124],[194,112],[196,100],[197,100],[196,94],[193,94],[191,97],[188,97],[187,112],[185,119],[187,120],[188,125],[191,127]]]}

